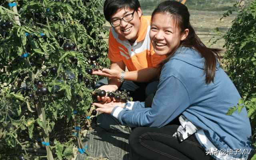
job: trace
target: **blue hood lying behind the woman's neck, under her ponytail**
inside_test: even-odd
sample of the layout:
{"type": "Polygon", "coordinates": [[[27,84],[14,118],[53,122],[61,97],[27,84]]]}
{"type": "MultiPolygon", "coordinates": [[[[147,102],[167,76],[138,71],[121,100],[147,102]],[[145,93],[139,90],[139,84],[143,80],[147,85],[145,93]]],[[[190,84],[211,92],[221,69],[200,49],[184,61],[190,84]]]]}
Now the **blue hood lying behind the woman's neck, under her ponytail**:
{"type": "MultiPolygon", "coordinates": [[[[204,70],[205,60],[201,56],[201,54],[193,48],[189,48],[189,47],[178,48],[170,60],[172,59],[182,60],[183,62],[186,62],[197,68],[204,70]]],[[[219,68],[220,68],[220,64],[217,60],[216,70],[218,70],[219,68]]]]}

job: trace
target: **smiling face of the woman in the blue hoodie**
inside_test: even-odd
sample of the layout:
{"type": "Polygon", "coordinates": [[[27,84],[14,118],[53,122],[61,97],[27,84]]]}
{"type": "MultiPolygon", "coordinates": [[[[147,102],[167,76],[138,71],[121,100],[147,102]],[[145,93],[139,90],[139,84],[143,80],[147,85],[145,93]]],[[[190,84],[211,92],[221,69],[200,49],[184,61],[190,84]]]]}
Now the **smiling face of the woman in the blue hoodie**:
{"type": "Polygon", "coordinates": [[[172,14],[156,13],[152,19],[150,40],[158,55],[170,54],[188,35],[188,29],[180,33],[172,14]]]}

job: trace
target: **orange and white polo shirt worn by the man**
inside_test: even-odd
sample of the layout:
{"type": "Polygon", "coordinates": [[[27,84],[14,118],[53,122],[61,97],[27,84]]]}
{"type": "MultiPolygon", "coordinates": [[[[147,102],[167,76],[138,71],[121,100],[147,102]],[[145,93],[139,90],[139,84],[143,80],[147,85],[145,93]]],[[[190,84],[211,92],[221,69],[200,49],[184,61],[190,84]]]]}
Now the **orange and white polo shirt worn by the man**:
{"type": "Polygon", "coordinates": [[[123,61],[129,71],[141,70],[148,67],[156,67],[166,56],[155,54],[150,43],[151,16],[140,17],[140,29],[134,44],[119,36],[114,28],[110,28],[108,38],[108,58],[112,62],[123,61]]]}

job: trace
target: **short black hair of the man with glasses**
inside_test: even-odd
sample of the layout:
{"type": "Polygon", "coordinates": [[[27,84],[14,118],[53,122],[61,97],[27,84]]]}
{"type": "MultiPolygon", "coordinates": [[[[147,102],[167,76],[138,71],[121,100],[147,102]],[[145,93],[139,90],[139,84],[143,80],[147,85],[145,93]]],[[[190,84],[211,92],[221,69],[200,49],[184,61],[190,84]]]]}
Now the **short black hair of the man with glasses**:
{"type": "Polygon", "coordinates": [[[138,11],[140,2],[138,0],[106,0],[103,9],[106,20],[110,22],[111,16],[116,13],[118,9],[124,7],[138,11]]]}

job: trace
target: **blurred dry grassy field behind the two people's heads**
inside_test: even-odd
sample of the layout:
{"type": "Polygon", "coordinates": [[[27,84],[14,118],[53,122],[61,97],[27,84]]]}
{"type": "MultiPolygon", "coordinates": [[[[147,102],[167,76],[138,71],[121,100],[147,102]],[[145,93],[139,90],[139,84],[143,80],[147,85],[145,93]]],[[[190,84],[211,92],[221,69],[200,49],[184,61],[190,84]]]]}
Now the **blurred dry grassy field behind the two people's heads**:
{"type": "MultiPolygon", "coordinates": [[[[163,0],[139,0],[142,7],[142,12],[144,15],[151,15],[154,8],[162,2],[163,0]]],[[[237,13],[233,12],[228,17],[222,18],[222,15],[227,10],[234,9],[234,4],[237,0],[186,0],[185,5],[190,11],[190,22],[199,38],[208,47],[212,48],[223,48],[224,40],[219,40],[216,44],[213,44],[216,38],[220,35],[225,34],[225,32],[230,28],[232,20],[236,17],[237,13]],[[218,34],[214,32],[214,29],[219,29],[218,34]],[[209,40],[211,40],[209,42],[209,40]]],[[[104,0],[102,1],[104,4],[104,0]]],[[[245,0],[244,5],[248,5],[250,0],[245,0]]],[[[102,8],[99,8],[102,11],[102,8]]],[[[110,24],[106,22],[106,28],[110,28],[110,24]]],[[[107,41],[108,37],[105,38],[107,41]]],[[[225,49],[225,48],[223,48],[225,49]]]]}

